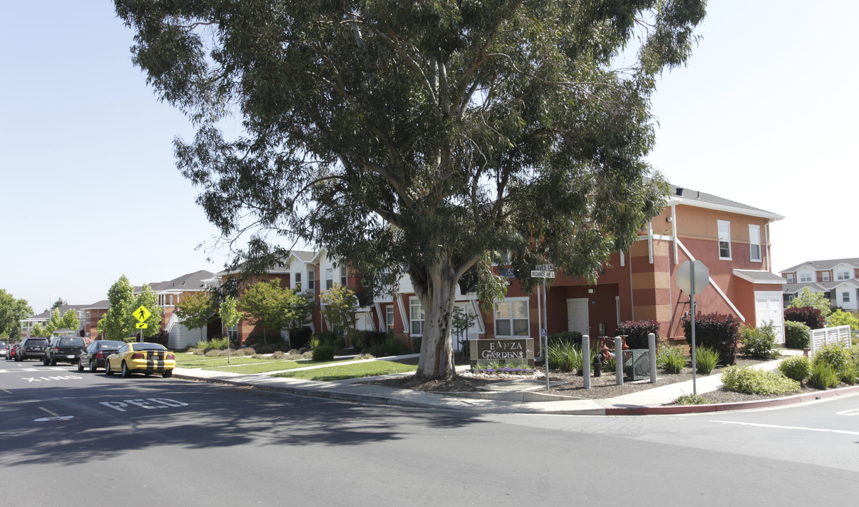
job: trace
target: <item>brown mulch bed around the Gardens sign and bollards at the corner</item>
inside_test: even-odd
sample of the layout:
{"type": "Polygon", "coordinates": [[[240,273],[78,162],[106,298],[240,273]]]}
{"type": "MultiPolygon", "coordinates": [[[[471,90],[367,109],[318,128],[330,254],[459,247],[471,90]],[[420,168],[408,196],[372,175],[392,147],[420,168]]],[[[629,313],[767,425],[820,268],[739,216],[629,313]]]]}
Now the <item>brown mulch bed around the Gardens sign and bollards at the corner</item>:
{"type": "MultiPolygon", "coordinates": [[[[398,361],[404,364],[417,365],[417,358],[411,359],[403,359],[398,361]]],[[[456,358],[457,365],[467,365],[468,362],[465,359],[456,358]]],[[[754,359],[746,356],[737,356],[737,365],[746,366],[746,365],[755,365],[758,363],[765,362],[765,359],[754,359]]],[[[723,367],[716,368],[713,371],[712,375],[718,375],[722,371],[723,367]]],[[[545,382],[545,374],[543,369],[538,368],[538,371],[534,373],[533,376],[527,377],[522,375],[515,376],[497,376],[497,375],[472,375],[472,374],[460,374],[449,380],[436,380],[432,382],[418,382],[414,377],[398,377],[398,378],[387,378],[387,379],[379,379],[369,381],[368,383],[374,383],[378,385],[384,385],[391,388],[397,389],[416,389],[427,392],[442,392],[442,393],[456,393],[456,392],[468,392],[468,391],[480,391],[485,390],[485,386],[491,383],[499,383],[499,382],[507,382],[514,378],[533,378],[535,380],[543,380],[545,382]]],[[[593,374],[592,374],[593,375],[593,374]]],[[[698,378],[705,377],[700,372],[698,372],[698,378]]],[[[686,368],[683,372],[677,374],[670,374],[664,371],[660,371],[658,373],[657,382],[650,383],[649,379],[644,381],[637,381],[632,383],[630,381],[624,380],[624,385],[618,385],[615,379],[615,374],[613,371],[606,372],[603,371],[601,377],[591,377],[591,389],[584,389],[583,386],[583,378],[576,373],[571,373],[567,371],[558,371],[558,370],[550,370],[549,371],[549,381],[550,383],[559,383],[557,385],[551,385],[549,390],[545,389],[545,384],[542,389],[534,390],[533,392],[545,393],[551,395],[562,395],[567,396],[570,399],[605,399],[605,398],[614,398],[621,395],[628,395],[630,393],[634,393],[637,391],[642,391],[646,389],[653,389],[655,387],[660,387],[663,385],[667,385],[670,383],[680,383],[686,382],[692,379],[692,371],[691,367],[686,368]]],[[[817,392],[819,389],[815,389],[813,387],[807,386],[805,383],[802,384],[802,389],[800,392],[791,393],[794,394],[803,394],[803,393],[811,393],[817,392]]],[[[691,389],[689,394],[691,394],[691,389]]],[[[753,401],[753,400],[763,400],[768,398],[778,398],[782,396],[771,396],[771,395],[746,395],[743,393],[736,393],[734,391],[729,391],[728,389],[717,389],[716,391],[710,391],[706,393],[700,393],[704,398],[713,403],[732,403],[737,401],[753,401]]]]}

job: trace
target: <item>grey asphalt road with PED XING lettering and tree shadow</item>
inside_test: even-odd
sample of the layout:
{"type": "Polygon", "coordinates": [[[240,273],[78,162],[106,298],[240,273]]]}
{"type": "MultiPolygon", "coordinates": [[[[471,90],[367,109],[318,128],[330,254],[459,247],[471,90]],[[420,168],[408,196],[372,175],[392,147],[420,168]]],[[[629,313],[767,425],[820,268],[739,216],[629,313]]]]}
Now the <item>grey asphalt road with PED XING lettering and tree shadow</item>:
{"type": "Polygon", "coordinates": [[[359,405],[0,362],[0,500],[53,505],[856,503],[859,396],[683,417],[359,405]]]}

